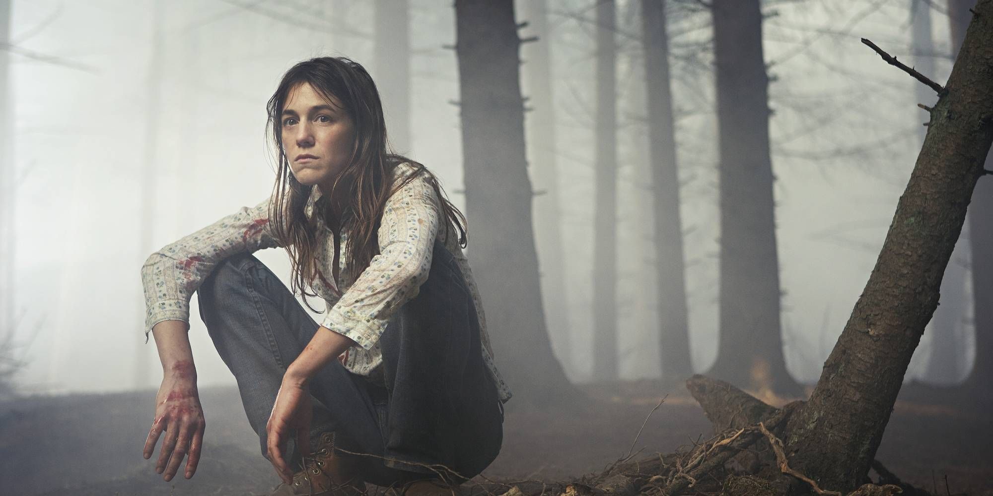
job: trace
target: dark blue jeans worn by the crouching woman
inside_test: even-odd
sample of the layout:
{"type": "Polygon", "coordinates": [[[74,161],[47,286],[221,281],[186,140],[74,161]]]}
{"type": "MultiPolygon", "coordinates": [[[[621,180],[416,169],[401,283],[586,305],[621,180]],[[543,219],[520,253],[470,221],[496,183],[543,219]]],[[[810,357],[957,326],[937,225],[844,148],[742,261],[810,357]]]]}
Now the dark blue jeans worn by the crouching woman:
{"type": "MultiPolygon", "coordinates": [[[[257,258],[224,260],[201,288],[200,313],[234,374],[248,423],[266,454],[265,426],[286,367],[319,325],[257,258]]],[[[385,386],[332,360],[311,379],[311,442],[336,433],[377,485],[479,474],[499,452],[502,406],[482,358],[479,320],[455,258],[435,243],[417,297],[380,336],[385,386]]],[[[299,463],[291,439],[286,455],[299,463]]]]}

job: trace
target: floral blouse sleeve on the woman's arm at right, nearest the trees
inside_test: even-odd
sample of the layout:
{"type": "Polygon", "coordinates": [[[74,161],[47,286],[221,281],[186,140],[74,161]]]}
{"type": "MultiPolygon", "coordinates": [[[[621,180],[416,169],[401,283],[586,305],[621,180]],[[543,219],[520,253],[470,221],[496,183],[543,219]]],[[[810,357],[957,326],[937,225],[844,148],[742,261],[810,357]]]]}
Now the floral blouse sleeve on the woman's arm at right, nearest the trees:
{"type": "Polygon", "coordinates": [[[376,233],[379,255],[372,257],[321,325],[366,350],[378,342],[393,312],[416,297],[427,281],[439,217],[437,194],[423,178],[394,192],[386,200],[376,233]]]}

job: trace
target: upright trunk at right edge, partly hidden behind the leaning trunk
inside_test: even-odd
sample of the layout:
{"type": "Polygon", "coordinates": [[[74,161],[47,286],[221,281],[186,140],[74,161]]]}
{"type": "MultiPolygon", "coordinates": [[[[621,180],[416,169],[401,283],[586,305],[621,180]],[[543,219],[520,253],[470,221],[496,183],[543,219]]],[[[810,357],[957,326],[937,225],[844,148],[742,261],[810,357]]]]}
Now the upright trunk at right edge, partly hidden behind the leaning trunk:
{"type": "MultiPolygon", "coordinates": [[[[960,54],[959,47],[966,28],[972,20],[969,9],[975,0],[949,0],[948,20],[951,25],[952,50],[960,54]]],[[[987,20],[988,22],[988,20],[987,20]]],[[[958,63],[956,59],[956,65],[958,63]]],[[[985,169],[993,171],[993,156],[986,156],[985,169]]],[[[987,178],[979,182],[972,192],[969,221],[969,248],[972,253],[973,322],[976,333],[975,364],[962,384],[969,399],[980,407],[993,406],[993,182],[987,178]]]]}

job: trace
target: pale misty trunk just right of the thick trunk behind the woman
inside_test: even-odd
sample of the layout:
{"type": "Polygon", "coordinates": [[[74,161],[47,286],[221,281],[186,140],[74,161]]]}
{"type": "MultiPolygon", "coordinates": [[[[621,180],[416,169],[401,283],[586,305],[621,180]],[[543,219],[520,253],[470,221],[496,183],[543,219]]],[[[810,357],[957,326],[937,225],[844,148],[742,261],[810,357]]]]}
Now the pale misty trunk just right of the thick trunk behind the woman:
{"type": "Polygon", "coordinates": [[[523,2],[525,21],[538,36],[537,43],[523,47],[524,75],[528,86],[527,151],[531,181],[540,191],[534,197],[534,238],[541,268],[545,324],[556,356],[566,370],[572,370],[572,335],[568,325],[564,283],[561,215],[559,213],[558,173],[555,158],[555,98],[552,91],[551,32],[548,29],[546,0],[523,2]]]}

